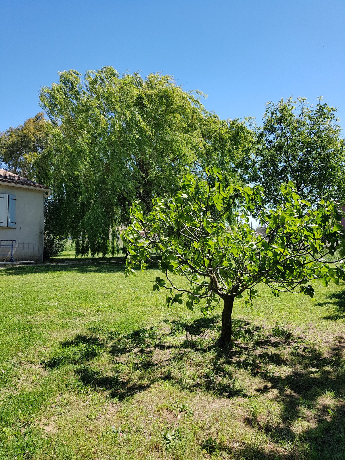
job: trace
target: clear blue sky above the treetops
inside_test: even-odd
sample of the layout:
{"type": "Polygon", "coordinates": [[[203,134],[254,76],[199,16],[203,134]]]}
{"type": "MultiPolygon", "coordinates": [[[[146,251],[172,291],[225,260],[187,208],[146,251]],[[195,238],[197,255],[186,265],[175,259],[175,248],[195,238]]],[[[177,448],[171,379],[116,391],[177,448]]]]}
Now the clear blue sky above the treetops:
{"type": "Polygon", "coordinates": [[[345,127],[345,0],[1,0],[0,131],[57,72],[141,70],[208,94],[223,118],[322,95],[345,127]]]}

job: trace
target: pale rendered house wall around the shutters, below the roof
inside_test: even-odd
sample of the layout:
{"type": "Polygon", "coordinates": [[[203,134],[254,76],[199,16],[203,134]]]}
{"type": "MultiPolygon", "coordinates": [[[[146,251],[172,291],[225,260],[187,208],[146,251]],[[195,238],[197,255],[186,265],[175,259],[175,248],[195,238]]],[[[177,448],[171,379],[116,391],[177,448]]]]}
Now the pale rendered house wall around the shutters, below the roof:
{"type": "MultiPolygon", "coordinates": [[[[16,196],[16,227],[0,227],[1,240],[16,240],[13,243],[13,259],[43,260],[44,195],[39,188],[13,187],[0,183],[0,193],[16,196]]],[[[11,248],[0,247],[0,254],[11,248]]],[[[0,262],[9,260],[0,256],[0,262]]]]}

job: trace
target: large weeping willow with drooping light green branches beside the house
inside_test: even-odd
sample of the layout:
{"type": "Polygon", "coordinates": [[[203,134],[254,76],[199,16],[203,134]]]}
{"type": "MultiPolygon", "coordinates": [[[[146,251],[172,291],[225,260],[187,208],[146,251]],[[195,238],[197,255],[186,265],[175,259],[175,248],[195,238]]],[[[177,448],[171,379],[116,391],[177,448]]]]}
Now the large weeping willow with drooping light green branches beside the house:
{"type": "Polygon", "coordinates": [[[201,92],[185,92],[168,75],[143,79],[104,67],[84,79],[75,70],[59,76],[40,92],[52,122],[45,155],[77,254],[114,253],[134,200],[149,211],[154,196],[178,190],[180,174],[232,155],[239,124],[208,113],[201,92]]]}

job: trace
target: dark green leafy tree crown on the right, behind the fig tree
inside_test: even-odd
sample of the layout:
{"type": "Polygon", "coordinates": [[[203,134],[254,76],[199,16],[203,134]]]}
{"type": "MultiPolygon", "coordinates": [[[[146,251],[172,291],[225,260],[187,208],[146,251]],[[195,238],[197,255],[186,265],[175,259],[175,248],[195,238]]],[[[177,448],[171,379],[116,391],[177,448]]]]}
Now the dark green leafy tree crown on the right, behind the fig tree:
{"type": "Polygon", "coordinates": [[[280,203],[281,184],[290,180],[299,196],[311,203],[344,201],[345,143],[335,111],[322,98],[315,108],[305,98],[267,104],[248,181],[264,187],[269,203],[280,203]]]}

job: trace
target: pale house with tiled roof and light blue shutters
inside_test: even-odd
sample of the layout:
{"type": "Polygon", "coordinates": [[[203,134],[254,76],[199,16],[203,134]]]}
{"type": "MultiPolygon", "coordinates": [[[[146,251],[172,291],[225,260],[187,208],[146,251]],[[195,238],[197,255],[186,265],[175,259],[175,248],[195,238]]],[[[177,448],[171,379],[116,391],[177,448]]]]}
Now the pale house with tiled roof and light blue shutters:
{"type": "Polygon", "coordinates": [[[43,260],[46,185],[0,169],[0,262],[43,260]]]}

